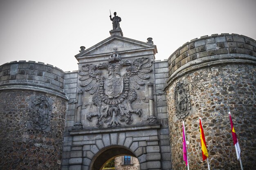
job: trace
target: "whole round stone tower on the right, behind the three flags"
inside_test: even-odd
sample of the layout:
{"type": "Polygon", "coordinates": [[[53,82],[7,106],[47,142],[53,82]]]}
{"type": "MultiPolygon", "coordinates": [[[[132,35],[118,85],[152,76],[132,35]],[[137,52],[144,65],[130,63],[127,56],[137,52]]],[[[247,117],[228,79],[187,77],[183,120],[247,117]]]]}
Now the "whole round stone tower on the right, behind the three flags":
{"type": "Polygon", "coordinates": [[[202,161],[199,117],[209,163],[215,170],[239,170],[228,111],[241,148],[244,170],[256,166],[256,41],[238,34],[214,34],[191,40],[169,58],[166,86],[173,170],[184,169],[182,121],[189,168],[202,161]]]}

